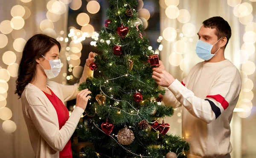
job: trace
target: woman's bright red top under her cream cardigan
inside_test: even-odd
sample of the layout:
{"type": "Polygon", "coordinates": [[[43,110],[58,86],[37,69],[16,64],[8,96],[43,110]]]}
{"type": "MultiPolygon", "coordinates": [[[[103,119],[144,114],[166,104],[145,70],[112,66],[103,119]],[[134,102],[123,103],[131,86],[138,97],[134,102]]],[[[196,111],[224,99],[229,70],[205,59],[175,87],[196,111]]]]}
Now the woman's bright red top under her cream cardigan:
{"type": "MultiPolygon", "coordinates": [[[[69,118],[69,112],[67,110],[67,107],[65,107],[65,105],[63,104],[63,102],[61,102],[61,100],[52,92],[50,88],[49,90],[51,91],[52,95],[44,91],[43,92],[47,96],[49,101],[52,103],[57,112],[59,127],[61,129],[61,127],[64,126],[64,124],[69,118]]],[[[60,151],[60,158],[73,158],[70,140],[67,142],[63,150],[60,151]]]]}

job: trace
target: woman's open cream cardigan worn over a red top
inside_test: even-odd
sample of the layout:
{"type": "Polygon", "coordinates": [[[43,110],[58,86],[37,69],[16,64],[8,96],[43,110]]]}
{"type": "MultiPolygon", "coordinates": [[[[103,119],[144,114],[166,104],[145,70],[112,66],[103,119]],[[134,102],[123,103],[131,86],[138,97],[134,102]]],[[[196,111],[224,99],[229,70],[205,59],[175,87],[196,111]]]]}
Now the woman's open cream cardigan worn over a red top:
{"type": "MultiPolygon", "coordinates": [[[[93,71],[84,68],[80,83],[93,76],[93,71]]],[[[78,86],[47,82],[47,86],[64,103],[76,98],[78,86]]],[[[84,110],[75,107],[65,125],[59,130],[58,116],[47,96],[35,85],[28,84],[21,96],[23,116],[29,132],[35,158],[59,158],[67,141],[74,133],[84,110]]]]}

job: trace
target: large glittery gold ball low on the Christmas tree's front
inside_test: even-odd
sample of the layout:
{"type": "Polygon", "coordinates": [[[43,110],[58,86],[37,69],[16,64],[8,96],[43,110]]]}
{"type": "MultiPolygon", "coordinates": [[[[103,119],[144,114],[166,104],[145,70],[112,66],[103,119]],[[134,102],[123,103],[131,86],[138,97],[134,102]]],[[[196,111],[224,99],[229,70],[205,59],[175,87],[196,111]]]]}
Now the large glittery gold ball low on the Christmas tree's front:
{"type": "Polygon", "coordinates": [[[117,133],[117,140],[122,145],[129,145],[134,140],[134,133],[132,130],[128,129],[127,126],[117,133]]]}

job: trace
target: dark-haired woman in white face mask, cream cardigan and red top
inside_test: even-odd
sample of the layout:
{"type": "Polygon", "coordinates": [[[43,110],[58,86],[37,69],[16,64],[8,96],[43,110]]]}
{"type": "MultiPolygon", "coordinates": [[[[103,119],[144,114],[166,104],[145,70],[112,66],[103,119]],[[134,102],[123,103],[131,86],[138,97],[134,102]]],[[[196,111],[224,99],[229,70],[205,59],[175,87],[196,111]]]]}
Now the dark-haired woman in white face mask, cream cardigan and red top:
{"type": "MultiPolygon", "coordinates": [[[[72,158],[70,137],[84,113],[91,92],[78,92],[78,85],[93,76],[84,67],[79,84],[61,85],[47,82],[58,75],[60,43],[44,34],[31,37],[23,49],[16,81],[16,91],[21,98],[23,116],[36,158],[72,158]],[[76,98],[76,107],[69,117],[64,102],[76,98]]],[[[86,65],[93,62],[96,53],[90,52],[86,65]]]]}

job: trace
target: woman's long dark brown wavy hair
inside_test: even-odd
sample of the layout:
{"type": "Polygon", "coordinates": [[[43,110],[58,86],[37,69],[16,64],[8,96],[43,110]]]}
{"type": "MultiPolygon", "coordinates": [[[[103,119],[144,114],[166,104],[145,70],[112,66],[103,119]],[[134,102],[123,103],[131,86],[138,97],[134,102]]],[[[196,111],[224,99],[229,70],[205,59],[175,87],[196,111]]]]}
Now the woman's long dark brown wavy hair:
{"type": "Polygon", "coordinates": [[[35,60],[46,54],[54,45],[61,51],[61,44],[45,34],[36,34],[26,42],[18,69],[15,94],[21,97],[26,85],[35,78],[38,64],[35,60]]]}

